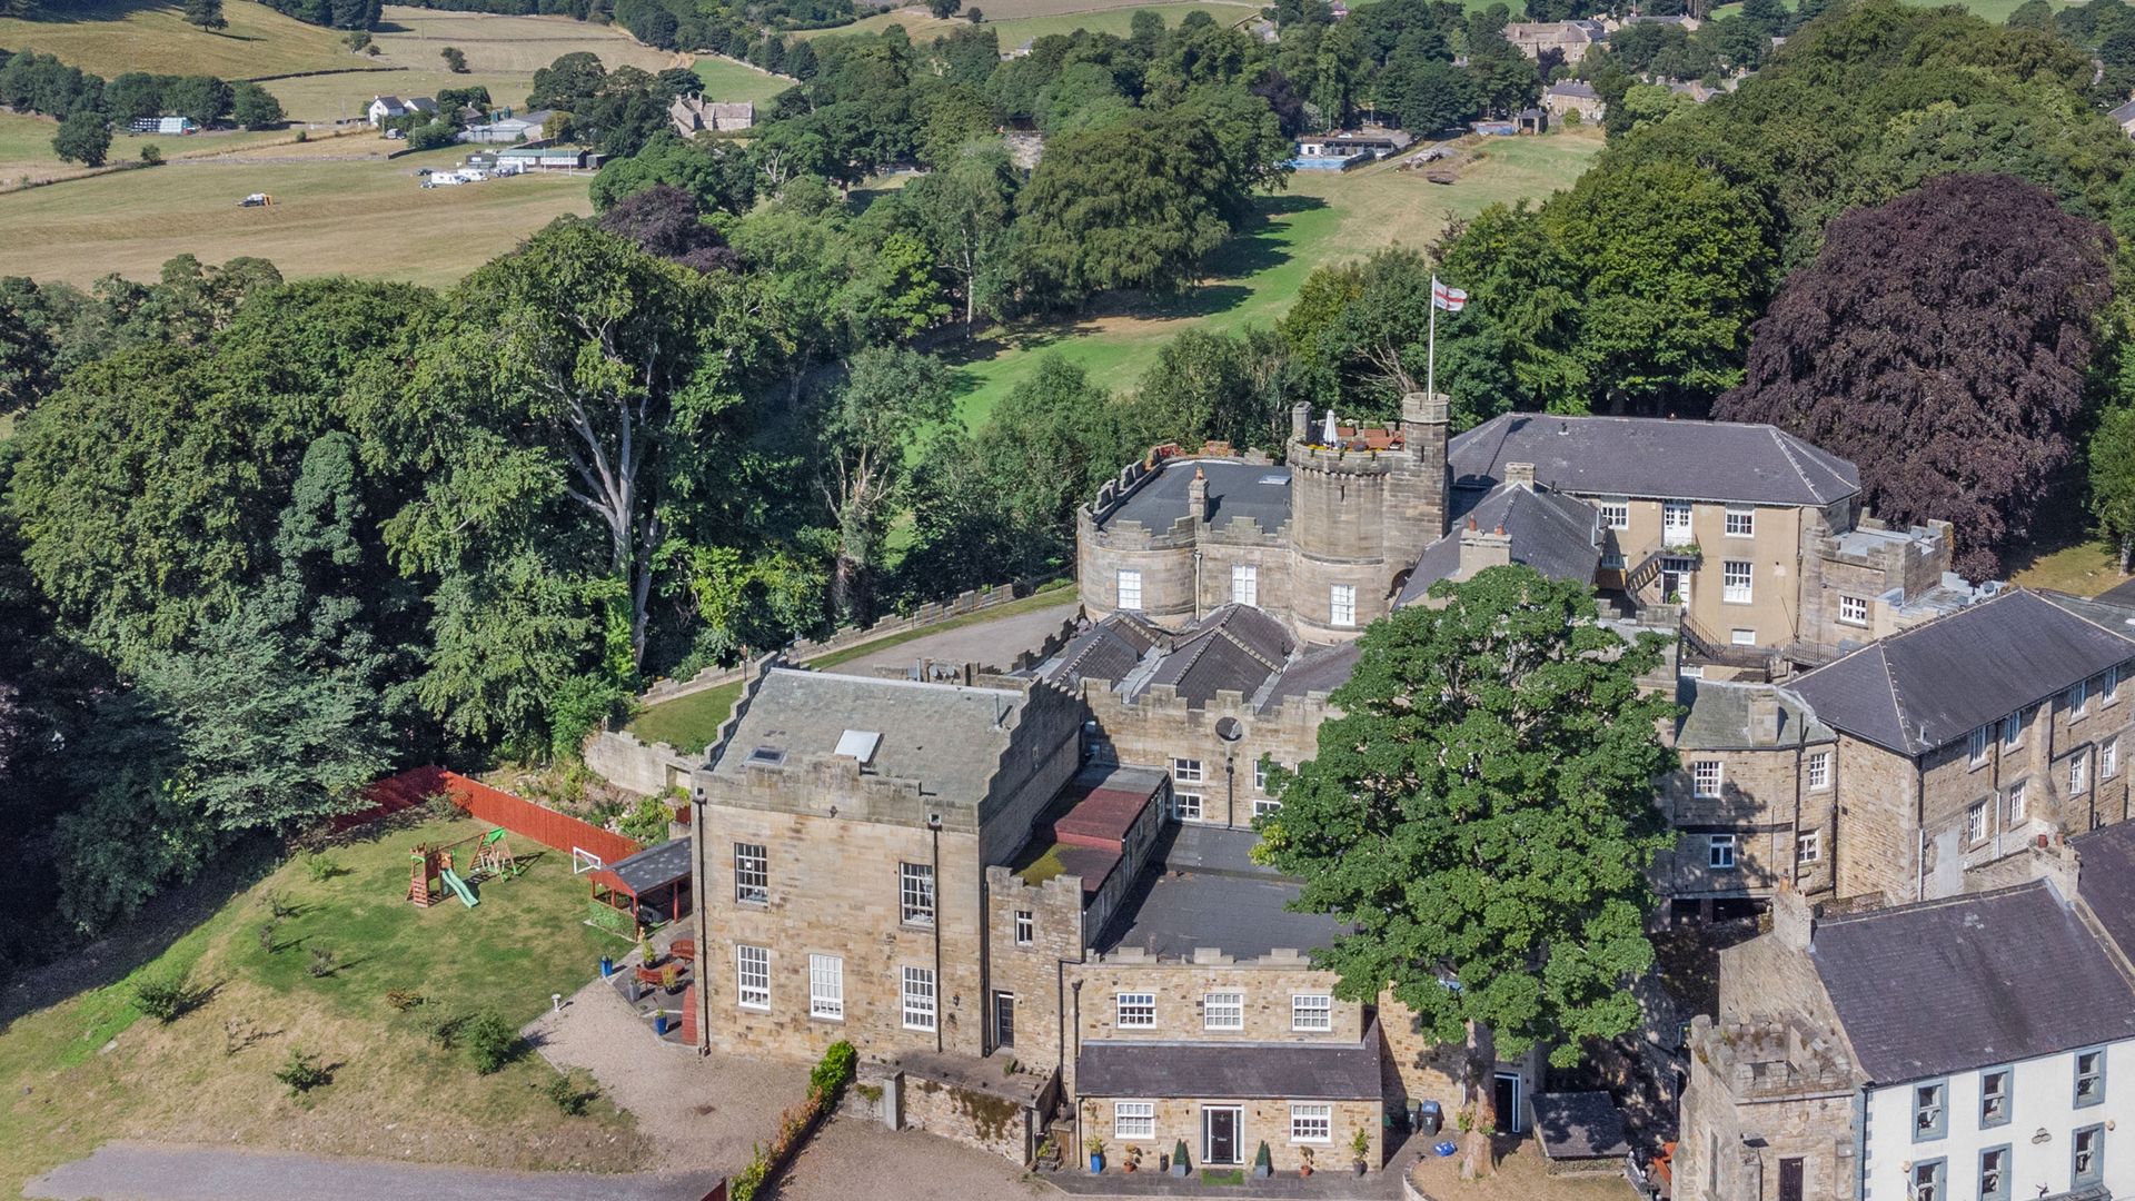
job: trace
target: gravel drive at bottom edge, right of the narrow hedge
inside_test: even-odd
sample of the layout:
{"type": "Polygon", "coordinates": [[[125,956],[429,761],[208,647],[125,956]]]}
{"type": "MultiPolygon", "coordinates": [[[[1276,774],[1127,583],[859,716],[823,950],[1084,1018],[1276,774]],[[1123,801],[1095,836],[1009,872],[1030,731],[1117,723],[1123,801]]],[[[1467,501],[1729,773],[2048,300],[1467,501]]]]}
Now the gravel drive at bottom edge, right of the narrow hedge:
{"type": "Polygon", "coordinates": [[[779,1201],[995,1201],[1059,1197],[1006,1158],[873,1118],[839,1113],[779,1180],[779,1201]]]}

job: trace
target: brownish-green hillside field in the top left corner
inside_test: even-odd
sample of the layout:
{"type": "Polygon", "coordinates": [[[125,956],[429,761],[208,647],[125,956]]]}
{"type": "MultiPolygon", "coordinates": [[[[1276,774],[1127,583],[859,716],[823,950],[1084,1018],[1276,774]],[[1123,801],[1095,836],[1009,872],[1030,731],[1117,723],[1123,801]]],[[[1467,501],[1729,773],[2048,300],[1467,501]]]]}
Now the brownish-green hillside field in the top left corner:
{"type": "Polygon", "coordinates": [[[307,26],[252,0],[224,0],[231,28],[201,32],[175,2],[77,0],[38,4],[34,19],[0,19],[0,47],[56,53],[105,79],[126,71],[252,79],[363,66],[339,30],[307,26]]]}

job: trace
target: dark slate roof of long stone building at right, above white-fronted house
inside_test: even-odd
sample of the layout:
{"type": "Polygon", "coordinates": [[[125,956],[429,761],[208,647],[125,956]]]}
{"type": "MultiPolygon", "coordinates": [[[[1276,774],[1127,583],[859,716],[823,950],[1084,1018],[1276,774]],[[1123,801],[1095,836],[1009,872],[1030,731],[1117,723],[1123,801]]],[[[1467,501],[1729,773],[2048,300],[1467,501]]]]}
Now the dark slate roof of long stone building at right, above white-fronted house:
{"type": "Polygon", "coordinates": [[[1825,724],[1907,757],[2135,658],[2135,641],[2011,588],[1793,682],[1825,724]]]}

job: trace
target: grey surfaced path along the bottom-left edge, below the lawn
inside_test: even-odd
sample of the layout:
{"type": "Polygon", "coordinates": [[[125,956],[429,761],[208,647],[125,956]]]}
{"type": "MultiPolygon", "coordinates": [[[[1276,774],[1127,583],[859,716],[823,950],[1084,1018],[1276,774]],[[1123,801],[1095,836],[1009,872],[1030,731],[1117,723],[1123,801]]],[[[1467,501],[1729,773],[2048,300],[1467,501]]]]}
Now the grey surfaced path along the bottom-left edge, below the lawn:
{"type": "Polygon", "coordinates": [[[23,1197],[56,1201],[696,1201],[717,1177],[572,1175],[406,1165],[226,1148],[105,1143],[23,1197]]]}

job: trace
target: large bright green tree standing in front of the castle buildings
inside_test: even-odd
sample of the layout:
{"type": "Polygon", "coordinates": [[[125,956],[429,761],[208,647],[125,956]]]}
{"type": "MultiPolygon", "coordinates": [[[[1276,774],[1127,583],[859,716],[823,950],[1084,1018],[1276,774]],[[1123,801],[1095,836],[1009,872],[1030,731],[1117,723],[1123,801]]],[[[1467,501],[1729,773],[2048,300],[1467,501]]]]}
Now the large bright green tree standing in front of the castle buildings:
{"type": "Polygon", "coordinates": [[[1392,992],[1439,1043],[1467,1043],[1475,1173],[1499,1056],[1548,1045],[1571,1066],[1640,1021],[1674,705],[1638,686],[1663,639],[1603,628],[1586,586],[1497,566],[1430,592],[1443,607],[1364,630],[1317,757],[1272,769],[1283,806],[1260,853],[1304,880],[1294,908],[1354,927],[1315,951],[1339,996],[1392,992]]]}

